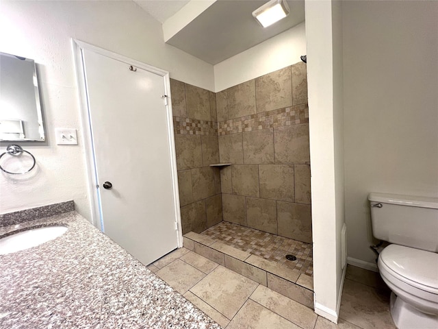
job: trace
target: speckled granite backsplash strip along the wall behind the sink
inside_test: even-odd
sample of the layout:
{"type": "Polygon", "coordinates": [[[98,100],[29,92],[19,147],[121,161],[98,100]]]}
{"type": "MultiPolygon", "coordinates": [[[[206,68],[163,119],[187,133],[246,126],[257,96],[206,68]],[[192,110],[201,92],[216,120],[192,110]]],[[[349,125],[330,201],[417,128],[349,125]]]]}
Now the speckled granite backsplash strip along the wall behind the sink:
{"type": "Polygon", "coordinates": [[[34,219],[60,215],[74,210],[75,202],[66,201],[61,202],[60,204],[49,204],[48,206],[9,212],[8,214],[0,215],[0,227],[16,225],[18,223],[23,223],[23,221],[32,221],[34,219]]]}

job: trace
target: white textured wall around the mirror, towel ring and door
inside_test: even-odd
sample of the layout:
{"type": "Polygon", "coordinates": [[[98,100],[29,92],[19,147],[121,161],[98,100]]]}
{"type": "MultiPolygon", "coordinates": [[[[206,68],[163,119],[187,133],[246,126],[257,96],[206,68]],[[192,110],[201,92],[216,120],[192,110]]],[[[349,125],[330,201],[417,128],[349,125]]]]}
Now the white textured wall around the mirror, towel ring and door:
{"type": "Polygon", "coordinates": [[[74,199],[91,218],[71,38],[214,90],[213,66],[166,45],[161,24],[133,1],[0,1],[0,51],[37,63],[47,137],[46,143],[19,143],[36,157],[29,175],[0,173],[1,213],[74,199]],[[55,145],[55,127],[76,128],[79,145],[55,145]]]}

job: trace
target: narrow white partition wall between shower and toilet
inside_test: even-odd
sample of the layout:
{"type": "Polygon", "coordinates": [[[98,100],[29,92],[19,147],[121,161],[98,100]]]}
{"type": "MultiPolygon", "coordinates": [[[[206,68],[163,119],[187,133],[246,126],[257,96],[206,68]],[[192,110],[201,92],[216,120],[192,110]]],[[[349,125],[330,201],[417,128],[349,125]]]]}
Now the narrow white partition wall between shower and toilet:
{"type": "MultiPolygon", "coordinates": [[[[342,5],[305,1],[315,313],[337,323],[346,267],[342,5]],[[344,258],[345,259],[345,258],[344,258]]],[[[372,23],[372,21],[371,21],[372,23]]],[[[348,228],[349,229],[349,228],[348,228]]]]}

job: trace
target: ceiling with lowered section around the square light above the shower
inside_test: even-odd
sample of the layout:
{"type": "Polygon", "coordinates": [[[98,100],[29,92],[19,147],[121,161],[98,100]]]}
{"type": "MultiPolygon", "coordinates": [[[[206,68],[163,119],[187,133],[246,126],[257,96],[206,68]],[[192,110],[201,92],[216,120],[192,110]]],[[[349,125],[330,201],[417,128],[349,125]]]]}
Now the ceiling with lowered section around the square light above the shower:
{"type": "MultiPolygon", "coordinates": [[[[134,1],[162,23],[189,2],[134,1]]],[[[268,0],[218,0],[167,43],[205,62],[217,64],[305,20],[304,0],[288,0],[289,16],[263,28],[251,13],[266,2],[268,0]]]]}

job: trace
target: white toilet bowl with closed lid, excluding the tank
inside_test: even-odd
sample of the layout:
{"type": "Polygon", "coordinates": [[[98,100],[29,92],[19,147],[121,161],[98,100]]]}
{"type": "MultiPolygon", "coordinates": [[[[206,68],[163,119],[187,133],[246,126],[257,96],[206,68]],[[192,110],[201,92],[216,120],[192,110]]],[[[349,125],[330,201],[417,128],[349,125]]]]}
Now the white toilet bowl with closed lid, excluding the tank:
{"type": "Polygon", "coordinates": [[[389,245],[378,269],[393,291],[391,315],[398,328],[438,328],[438,254],[389,245]]]}

